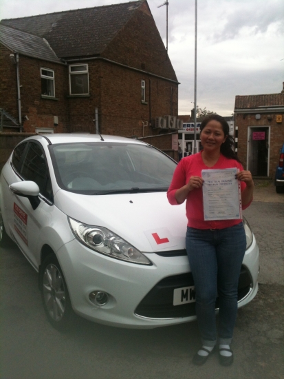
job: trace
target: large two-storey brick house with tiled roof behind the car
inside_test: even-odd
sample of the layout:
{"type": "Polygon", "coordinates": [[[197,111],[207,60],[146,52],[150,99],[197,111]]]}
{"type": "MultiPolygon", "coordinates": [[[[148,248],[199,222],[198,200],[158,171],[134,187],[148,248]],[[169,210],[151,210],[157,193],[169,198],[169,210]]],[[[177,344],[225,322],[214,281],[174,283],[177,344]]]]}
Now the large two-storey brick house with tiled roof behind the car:
{"type": "Polygon", "coordinates": [[[2,20],[0,49],[4,125],[146,138],[168,133],[156,117],[177,116],[179,83],[146,0],[2,20]]]}

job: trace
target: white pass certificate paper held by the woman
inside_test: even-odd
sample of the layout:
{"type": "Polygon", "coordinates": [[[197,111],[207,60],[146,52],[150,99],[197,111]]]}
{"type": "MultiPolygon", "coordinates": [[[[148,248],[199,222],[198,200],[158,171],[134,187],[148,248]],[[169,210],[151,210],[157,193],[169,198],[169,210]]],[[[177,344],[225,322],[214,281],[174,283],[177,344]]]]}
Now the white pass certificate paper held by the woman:
{"type": "Polygon", "coordinates": [[[242,218],[241,185],[236,179],[237,168],[202,170],[204,220],[242,218]]]}

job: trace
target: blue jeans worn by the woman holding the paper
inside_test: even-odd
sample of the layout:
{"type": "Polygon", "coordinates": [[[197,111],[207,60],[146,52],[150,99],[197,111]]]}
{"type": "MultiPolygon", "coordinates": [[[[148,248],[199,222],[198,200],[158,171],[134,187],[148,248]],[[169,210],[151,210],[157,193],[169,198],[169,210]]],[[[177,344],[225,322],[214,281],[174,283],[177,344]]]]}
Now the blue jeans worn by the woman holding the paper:
{"type": "Polygon", "coordinates": [[[246,238],[243,223],[225,229],[186,232],[186,252],[195,282],[196,314],[202,343],[215,346],[215,301],[219,296],[219,343],[230,345],[237,318],[237,291],[246,238]]]}

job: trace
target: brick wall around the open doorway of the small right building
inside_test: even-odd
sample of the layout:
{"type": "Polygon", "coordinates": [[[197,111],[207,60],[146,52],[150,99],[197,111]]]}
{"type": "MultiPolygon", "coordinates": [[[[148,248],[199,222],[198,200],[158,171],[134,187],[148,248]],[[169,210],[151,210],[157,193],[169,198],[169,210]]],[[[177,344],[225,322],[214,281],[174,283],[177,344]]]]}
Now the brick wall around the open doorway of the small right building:
{"type": "Polygon", "coordinates": [[[261,119],[256,120],[255,114],[237,114],[236,126],[238,127],[238,156],[243,164],[247,161],[248,127],[270,126],[270,177],[274,177],[276,165],[279,160],[279,149],[284,143],[284,114],[282,123],[276,123],[276,114],[270,114],[272,119],[267,119],[267,114],[261,114],[261,119]]]}

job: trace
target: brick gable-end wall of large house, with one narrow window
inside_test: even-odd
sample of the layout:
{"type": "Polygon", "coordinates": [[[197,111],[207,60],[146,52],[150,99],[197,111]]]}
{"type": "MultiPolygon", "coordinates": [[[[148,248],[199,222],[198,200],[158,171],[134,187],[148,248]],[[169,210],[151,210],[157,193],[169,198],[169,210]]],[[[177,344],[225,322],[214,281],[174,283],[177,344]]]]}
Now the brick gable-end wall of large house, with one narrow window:
{"type": "Polygon", "coordinates": [[[105,62],[101,73],[102,133],[122,136],[143,136],[143,132],[144,136],[159,134],[161,130],[150,127],[150,123],[155,125],[155,117],[177,115],[177,85],[105,62]],[[146,83],[146,103],[141,102],[142,80],[146,83]],[[148,126],[143,127],[143,123],[148,126]]]}

